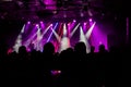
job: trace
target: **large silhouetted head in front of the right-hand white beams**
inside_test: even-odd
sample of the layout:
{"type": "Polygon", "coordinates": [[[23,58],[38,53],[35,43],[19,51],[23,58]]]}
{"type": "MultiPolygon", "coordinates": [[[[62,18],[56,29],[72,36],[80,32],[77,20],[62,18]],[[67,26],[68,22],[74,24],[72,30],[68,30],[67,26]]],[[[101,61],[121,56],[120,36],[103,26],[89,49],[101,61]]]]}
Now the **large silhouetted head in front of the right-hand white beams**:
{"type": "Polygon", "coordinates": [[[74,51],[79,53],[86,53],[86,46],[84,42],[80,41],[75,44],[74,51]]]}

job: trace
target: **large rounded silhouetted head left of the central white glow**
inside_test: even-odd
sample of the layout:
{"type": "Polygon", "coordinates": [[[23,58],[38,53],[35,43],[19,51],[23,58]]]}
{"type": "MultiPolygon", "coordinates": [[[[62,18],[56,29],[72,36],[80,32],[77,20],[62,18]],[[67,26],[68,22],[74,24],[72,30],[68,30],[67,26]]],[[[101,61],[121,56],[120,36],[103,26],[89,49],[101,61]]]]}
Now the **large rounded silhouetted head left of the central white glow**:
{"type": "Polygon", "coordinates": [[[45,44],[44,52],[48,53],[48,54],[53,54],[55,53],[55,46],[51,42],[45,44]]]}

